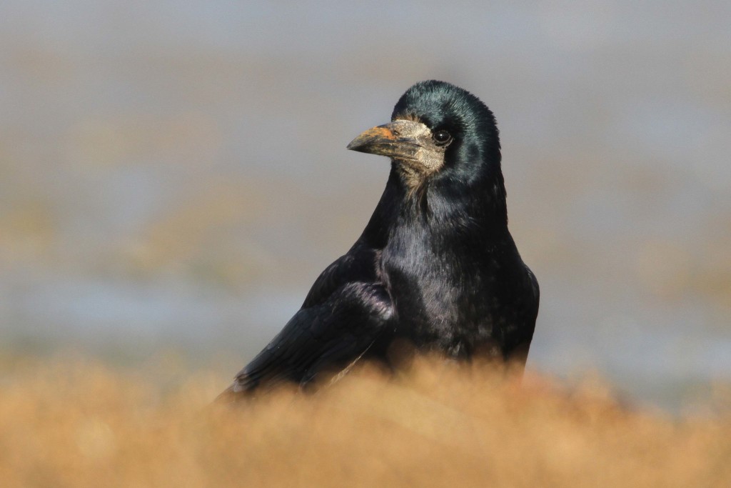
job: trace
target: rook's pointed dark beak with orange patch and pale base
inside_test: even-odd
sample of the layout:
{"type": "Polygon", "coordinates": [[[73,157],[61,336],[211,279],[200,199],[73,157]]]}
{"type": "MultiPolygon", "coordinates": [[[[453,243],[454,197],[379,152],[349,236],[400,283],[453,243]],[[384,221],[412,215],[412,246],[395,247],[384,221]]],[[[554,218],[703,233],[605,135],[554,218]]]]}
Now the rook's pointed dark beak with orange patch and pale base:
{"type": "Polygon", "coordinates": [[[350,141],[348,149],[395,159],[415,159],[421,149],[417,136],[425,130],[428,128],[420,122],[396,120],[366,130],[350,141]]]}

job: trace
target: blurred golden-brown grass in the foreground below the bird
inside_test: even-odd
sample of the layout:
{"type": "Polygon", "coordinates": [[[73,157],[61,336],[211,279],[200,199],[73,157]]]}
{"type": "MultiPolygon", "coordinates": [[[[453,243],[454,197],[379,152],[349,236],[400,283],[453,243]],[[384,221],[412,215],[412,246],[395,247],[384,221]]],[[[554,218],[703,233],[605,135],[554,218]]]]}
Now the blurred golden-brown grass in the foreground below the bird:
{"type": "Polygon", "coordinates": [[[731,486],[730,413],[636,411],[599,382],[419,359],[219,410],[210,370],[0,369],[2,487],[731,486]]]}

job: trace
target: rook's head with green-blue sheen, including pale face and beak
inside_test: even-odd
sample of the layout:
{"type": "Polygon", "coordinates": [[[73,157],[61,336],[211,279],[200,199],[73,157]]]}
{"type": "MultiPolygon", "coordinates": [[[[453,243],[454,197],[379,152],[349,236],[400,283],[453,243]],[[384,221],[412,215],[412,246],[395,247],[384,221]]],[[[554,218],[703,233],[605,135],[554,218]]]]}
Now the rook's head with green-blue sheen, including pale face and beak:
{"type": "Polygon", "coordinates": [[[439,181],[463,189],[492,180],[504,200],[493,113],[450,83],[416,83],[396,103],[390,123],[366,130],[348,149],[390,157],[410,190],[439,181]]]}

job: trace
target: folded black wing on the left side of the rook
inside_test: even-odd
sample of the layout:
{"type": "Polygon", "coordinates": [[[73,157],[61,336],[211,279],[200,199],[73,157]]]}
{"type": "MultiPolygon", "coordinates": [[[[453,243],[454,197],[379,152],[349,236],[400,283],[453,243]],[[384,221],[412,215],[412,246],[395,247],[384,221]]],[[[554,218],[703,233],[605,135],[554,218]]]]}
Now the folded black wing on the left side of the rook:
{"type": "Polygon", "coordinates": [[[346,367],[387,329],[393,304],[378,282],[375,252],[356,243],[315,281],[303,307],[224,392],[283,381],[302,385],[324,369],[346,367]]]}

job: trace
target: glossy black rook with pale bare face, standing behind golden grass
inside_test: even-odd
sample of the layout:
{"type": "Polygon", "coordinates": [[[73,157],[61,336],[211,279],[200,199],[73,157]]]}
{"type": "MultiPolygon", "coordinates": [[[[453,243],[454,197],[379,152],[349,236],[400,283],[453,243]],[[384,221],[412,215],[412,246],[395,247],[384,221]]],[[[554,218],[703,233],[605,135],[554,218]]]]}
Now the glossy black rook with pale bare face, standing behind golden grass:
{"type": "Polygon", "coordinates": [[[389,364],[390,345],[401,342],[525,364],[538,282],[507,228],[491,110],[450,83],[423,81],[401,96],[389,124],[348,149],[391,158],[366,230],[221,397],[282,381],[306,386],[361,359],[389,364]]]}

